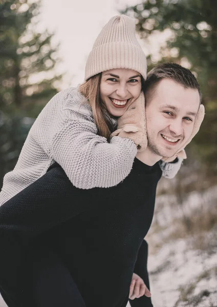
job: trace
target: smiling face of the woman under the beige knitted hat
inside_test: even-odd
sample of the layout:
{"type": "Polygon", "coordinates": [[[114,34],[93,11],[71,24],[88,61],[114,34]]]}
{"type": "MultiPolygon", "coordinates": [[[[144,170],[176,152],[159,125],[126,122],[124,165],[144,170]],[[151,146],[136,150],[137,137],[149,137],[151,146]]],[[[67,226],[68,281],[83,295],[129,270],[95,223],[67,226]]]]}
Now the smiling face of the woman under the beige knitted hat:
{"type": "Polygon", "coordinates": [[[102,72],[100,98],[108,113],[122,116],[141,93],[141,75],[131,69],[111,69],[102,72]]]}

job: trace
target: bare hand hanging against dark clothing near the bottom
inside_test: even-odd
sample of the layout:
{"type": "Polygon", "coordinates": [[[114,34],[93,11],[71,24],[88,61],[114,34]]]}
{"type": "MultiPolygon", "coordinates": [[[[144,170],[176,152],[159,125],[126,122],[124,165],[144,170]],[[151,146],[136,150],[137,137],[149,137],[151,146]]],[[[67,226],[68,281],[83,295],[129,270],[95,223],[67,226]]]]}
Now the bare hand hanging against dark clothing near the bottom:
{"type": "Polygon", "coordinates": [[[145,295],[147,297],[151,296],[150,291],[145,286],[145,283],[142,278],[134,273],[131,281],[131,287],[129,288],[129,299],[139,298],[142,295],[145,295]]]}

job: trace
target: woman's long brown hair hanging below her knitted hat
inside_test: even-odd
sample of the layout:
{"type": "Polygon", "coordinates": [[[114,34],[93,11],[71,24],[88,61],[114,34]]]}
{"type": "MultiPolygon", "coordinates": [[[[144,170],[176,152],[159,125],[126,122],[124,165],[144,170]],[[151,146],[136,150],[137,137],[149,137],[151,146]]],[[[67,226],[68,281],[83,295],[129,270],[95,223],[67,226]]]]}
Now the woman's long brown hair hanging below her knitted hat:
{"type": "MultiPolygon", "coordinates": [[[[95,123],[98,128],[98,134],[105,137],[108,141],[114,131],[113,123],[108,116],[106,106],[100,98],[100,82],[102,73],[99,73],[79,86],[80,93],[89,100],[92,107],[95,123]]],[[[141,76],[142,91],[144,92],[144,78],[141,76]]]]}

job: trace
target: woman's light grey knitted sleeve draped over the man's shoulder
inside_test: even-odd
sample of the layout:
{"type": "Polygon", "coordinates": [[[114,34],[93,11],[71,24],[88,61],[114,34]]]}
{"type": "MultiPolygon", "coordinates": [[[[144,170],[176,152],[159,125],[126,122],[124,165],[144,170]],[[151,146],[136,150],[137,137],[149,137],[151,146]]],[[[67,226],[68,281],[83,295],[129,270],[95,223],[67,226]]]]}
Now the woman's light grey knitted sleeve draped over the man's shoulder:
{"type": "Polygon", "coordinates": [[[55,135],[51,156],[81,189],[111,187],[132,169],[137,148],[130,139],[97,135],[96,124],[77,113],[68,118],[55,135]]]}

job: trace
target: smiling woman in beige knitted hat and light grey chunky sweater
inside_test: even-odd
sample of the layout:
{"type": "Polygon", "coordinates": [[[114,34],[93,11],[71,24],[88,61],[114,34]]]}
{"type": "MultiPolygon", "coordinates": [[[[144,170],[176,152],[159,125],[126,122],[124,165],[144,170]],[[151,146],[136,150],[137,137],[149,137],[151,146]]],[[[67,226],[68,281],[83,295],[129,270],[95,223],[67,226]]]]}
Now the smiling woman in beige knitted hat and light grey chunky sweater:
{"type": "MultiPolygon", "coordinates": [[[[134,19],[111,18],[86,62],[85,82],[54,96],[30,129],[15,168],[4,177],[0,205],[40,178],[55,161],[82,189],[111,187],[126,178],[137,146],[144,142],[140,133],[144,121],[137,123],[140,131],[128,138],[126,134],[111,138],[111,133],[117,118],[144,90],[145,79],[146,58],[135,36],[134,19]]],[[[175,173],[179,167],[174,167],[175,173]]],[[[167,165],[162,169],[167,176],[167,165]]]]}

